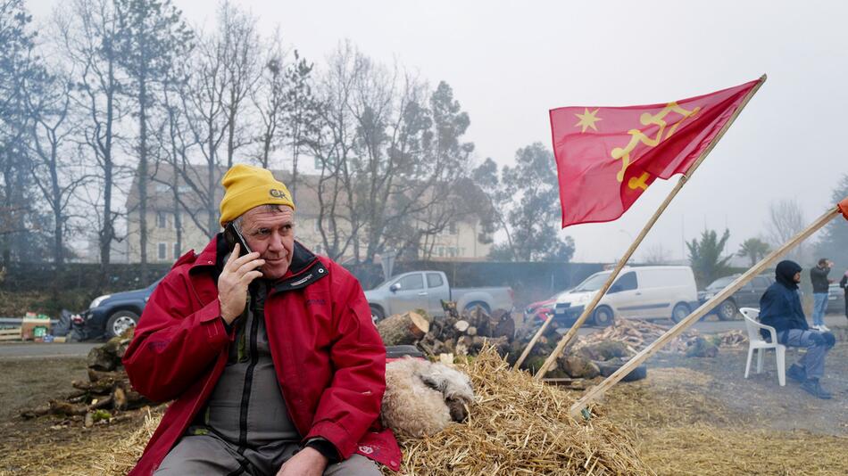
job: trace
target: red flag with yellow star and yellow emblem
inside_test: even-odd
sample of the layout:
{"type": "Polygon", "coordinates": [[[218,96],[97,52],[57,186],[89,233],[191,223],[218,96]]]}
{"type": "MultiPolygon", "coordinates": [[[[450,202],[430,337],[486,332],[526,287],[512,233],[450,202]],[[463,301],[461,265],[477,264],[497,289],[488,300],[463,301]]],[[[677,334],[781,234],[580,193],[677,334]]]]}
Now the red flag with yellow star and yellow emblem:
{"type": "Polygon", "coordinates": [[[686,173],[763,79],[667,104],[551,110],[562,227],[612,221],[686,173]]]}

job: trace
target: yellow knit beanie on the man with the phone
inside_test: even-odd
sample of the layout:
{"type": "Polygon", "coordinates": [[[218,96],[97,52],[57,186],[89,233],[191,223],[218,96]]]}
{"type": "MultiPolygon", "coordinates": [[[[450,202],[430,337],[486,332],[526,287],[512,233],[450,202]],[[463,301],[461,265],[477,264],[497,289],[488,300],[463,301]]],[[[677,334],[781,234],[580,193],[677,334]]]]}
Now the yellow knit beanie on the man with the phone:
{"type": "Polygon", "coordinates": [[[220,226],[260,205],[286,205],[295,209],[286,185],[274,178],[270,170],[236,164],[220,180],[224,198],[220,201],[220,226]]]}

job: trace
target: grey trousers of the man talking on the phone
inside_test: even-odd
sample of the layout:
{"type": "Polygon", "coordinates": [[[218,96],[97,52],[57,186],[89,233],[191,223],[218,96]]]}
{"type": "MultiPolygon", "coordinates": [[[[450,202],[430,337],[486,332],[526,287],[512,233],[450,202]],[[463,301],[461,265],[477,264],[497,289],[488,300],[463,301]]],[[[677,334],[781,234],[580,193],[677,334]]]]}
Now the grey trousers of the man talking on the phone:
{"type": "MultiPolygon", "coordinates": [[[[298,448],[280,443],[256,449],[239,448],[214,434],[184,436],[162,460],[156,476],[273,476],[298,448]]],[[[378,465],[362,455],[330,464],[324,476],[379,476],[378,465]]]]}

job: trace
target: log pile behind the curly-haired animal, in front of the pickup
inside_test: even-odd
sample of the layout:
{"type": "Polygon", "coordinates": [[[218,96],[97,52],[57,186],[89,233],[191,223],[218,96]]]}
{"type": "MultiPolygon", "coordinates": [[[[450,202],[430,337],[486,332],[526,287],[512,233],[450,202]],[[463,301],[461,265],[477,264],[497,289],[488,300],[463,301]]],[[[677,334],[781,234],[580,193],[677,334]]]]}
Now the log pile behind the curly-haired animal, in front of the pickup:
{"type": "Polygon", "coordinates": [[[495,309],[489,314],[478,307],[460,313],[455,302],[445,301],[442,307],[445,316],[431,318],[423,311],[407,312],[378,322],[383,343],[414,345],[428,357],[478,355],[486,343],[494,345],[501,356],[510,352],[515,322],[508,311],[495,309]]]}

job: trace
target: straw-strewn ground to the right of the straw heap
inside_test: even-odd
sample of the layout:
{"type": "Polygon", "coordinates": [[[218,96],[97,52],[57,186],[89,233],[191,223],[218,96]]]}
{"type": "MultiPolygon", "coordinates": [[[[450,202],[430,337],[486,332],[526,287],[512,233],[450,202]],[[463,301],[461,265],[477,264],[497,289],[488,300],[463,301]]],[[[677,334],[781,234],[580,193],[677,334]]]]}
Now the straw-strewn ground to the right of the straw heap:
{"type": "Polygon", "coordinates": [[[848,342],[827,356],[831,400],[788,378],[780,387],[773,353],[745,380],[746,357],[747,345],[714,358],[654,356],[648,378],[614,387],[603,411],[661,475],[848,474],[848,342]]]}

